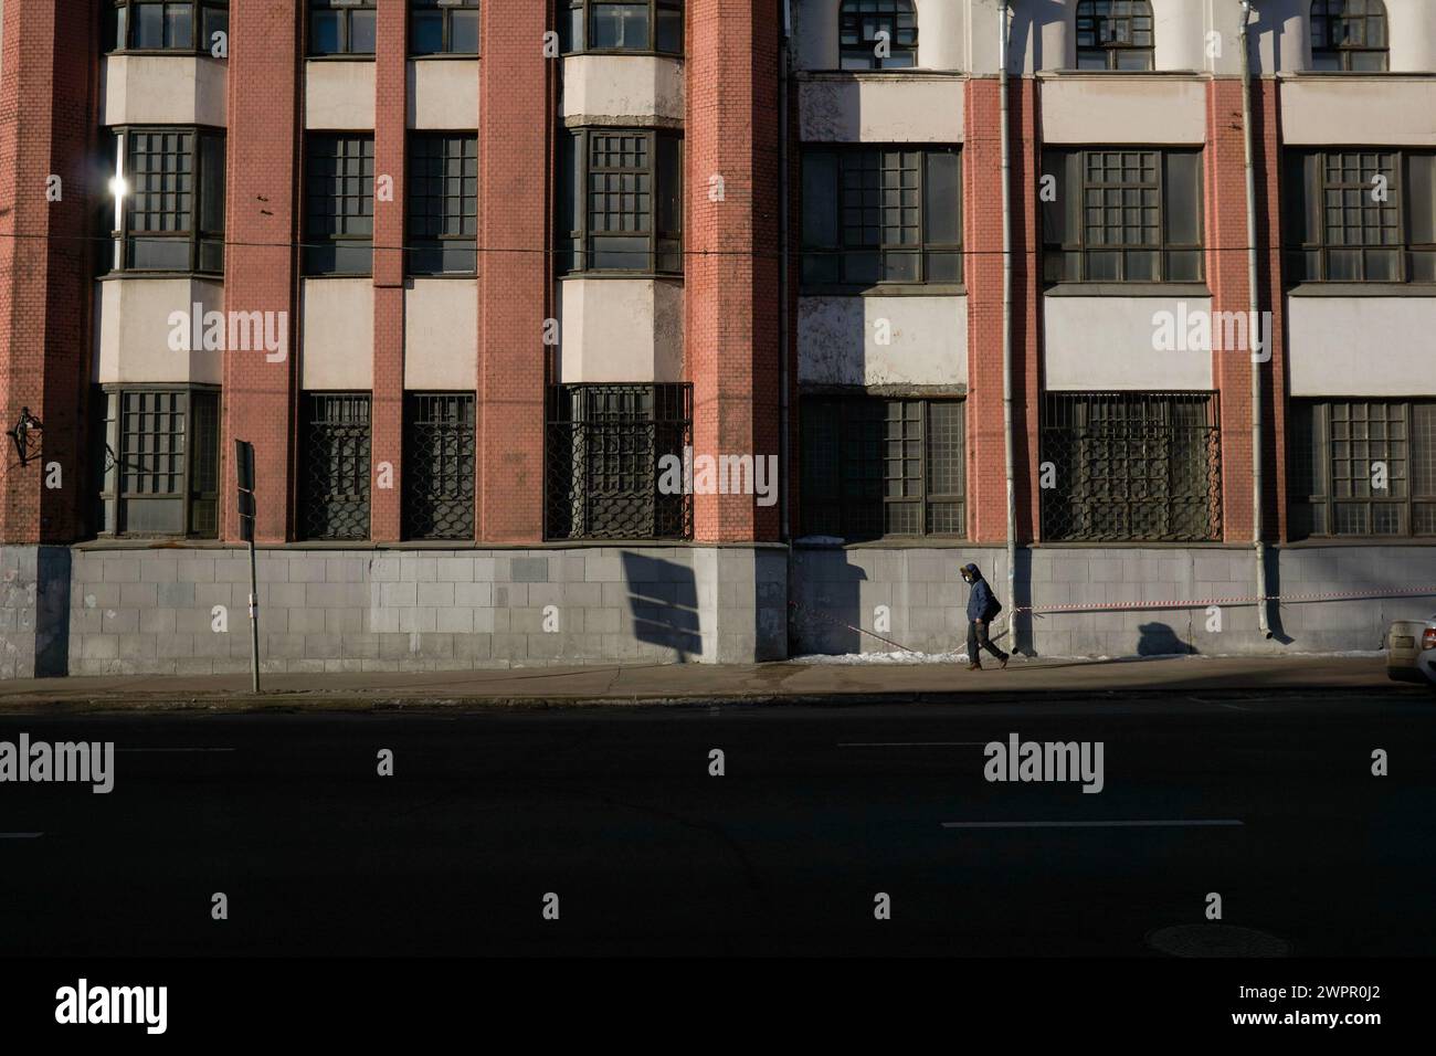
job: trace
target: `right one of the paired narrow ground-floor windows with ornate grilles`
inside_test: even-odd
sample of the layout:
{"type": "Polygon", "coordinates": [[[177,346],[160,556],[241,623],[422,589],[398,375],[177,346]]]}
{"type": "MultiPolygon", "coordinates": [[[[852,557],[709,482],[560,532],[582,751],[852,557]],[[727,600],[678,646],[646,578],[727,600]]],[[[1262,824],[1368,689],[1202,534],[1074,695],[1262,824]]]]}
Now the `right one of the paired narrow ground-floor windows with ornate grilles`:
{"type": "Polygon", "coordinates": [[[474,537],[474,394],[409,392],[404,414],[404,537],[474,537]]]}

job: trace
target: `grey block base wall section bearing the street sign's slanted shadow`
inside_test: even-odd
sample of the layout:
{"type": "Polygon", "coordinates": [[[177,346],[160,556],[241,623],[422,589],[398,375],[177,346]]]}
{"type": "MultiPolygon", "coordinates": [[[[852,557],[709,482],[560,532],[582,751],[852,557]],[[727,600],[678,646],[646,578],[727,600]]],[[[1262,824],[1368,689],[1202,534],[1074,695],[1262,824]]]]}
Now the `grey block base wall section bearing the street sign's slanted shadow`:
{"type": "MultiPolygon", "coordinates": [[[[244,671],[244,550],[73,552],[70,674],[244,671]]],[[[783,547],[258,552],[266,671],[752,662],[787,647],[783,547]]]]}

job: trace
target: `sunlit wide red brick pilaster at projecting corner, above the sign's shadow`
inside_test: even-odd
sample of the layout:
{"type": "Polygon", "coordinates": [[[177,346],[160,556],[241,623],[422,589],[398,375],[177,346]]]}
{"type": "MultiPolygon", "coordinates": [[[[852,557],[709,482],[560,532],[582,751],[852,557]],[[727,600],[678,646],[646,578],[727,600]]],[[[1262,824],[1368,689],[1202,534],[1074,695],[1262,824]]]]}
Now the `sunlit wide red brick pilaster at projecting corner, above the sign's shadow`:
{"type": "MultiPolygon", "coordinates": [[[[777,76],[771,3],[689,1],[684,351],[698,454],[780,453],[777,76]]],[[[773,540],[778,530],[778,506],[694,497],[698,540],[773,540]]]]}

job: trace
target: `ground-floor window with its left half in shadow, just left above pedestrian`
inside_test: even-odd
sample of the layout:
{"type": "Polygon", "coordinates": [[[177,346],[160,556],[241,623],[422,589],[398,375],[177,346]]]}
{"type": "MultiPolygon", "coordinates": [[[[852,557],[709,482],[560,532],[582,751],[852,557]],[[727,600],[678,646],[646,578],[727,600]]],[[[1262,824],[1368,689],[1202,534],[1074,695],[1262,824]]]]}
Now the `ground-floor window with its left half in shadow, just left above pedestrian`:
{"type": "Polygon", "coordinates": [[[801,411],[804,534],[966,534],[962,401],[807,397],[801,411]]]}

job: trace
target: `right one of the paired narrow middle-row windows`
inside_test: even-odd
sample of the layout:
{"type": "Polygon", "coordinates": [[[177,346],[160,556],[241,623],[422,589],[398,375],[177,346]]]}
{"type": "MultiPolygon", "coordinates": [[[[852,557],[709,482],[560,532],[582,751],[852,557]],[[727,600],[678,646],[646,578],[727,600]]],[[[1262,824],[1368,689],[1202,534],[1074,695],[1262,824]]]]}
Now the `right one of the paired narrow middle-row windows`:
{"type": "Polygon", "coordinates": [[[409,273],[478,270],[478,138],[409,139],[409,273]]]}

